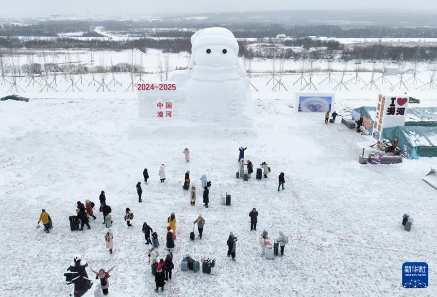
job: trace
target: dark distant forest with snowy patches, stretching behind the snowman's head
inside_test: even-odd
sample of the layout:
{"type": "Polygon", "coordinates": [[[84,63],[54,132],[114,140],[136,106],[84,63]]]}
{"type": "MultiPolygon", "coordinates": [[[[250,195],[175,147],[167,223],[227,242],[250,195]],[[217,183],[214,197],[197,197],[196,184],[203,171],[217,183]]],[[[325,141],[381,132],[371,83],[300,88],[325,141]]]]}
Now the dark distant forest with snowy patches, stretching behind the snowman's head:
{"type": "Polygon", "coordinates": [[[434,61],[437,60],[437,46],[432,43],[386,44],[382,42],[344,45],[335,40],[317,39],[315,37],[336,38],[437,38],[435,27],[341,27],[330,25],[283,25],[255,22],[202,23],[202,21],[85,21],[56,20],[40,21],[31,25],[0,25],[0,48],[18,49],[60,49],[88,48],[123,50],[137,48],[143,52],[147,49],[161,49],[164,52],[190,52],[189,37],[194,31],[211,26],[230,29],[237,38],[257,38],[256,42],[242,41],[240,56],[246,58],[286,59],[353,59],[390,60],[390,61],[434,61]],[[107,41],[77,40],[60,38],[56,40],[22,40],[17,36],[56,37],[60,33],[84,32],[83,36],[101,37],[93,27],[103,26],[107,31],[125,36],[140,37],[138,40],[107,41]],[[159,29],[156,29],[159,28],[159,29]],[[292,39],[275,38],[284,34],[292,39]],[[152,37],[167,37],[156,40],[152,37]]]}

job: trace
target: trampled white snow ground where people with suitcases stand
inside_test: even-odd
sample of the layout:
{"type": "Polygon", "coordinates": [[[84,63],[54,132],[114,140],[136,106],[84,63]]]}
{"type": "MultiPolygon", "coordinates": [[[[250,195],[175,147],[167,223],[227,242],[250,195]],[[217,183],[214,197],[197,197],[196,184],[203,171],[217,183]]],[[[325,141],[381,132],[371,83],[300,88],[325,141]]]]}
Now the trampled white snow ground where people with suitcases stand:
{"type": "MultiPolygon", "coordinates": [[[[29,103],[1,102],[0,195],[6,203],[1,209],[0,295],[24,297],[32,290],[67,296],[72,286],[64,283],[63,273],[78,253],[88,268],[116,266],[108,296],[156,294],[141,226],[147,221],[158,233],[159,258],[165,258],[167,218],[175,212],[175,269],[160,296],[411,296],[401,284],[402,264],[423,261],[434,267],[437,262],[436,190],[421,180],[436,167],[436,159],[360,165],[358,154],[369,138],[341,125],[340,118],[325,125],[323,114],[294,113],[292,91],[303,87],[292,86],[298,77],[283,78],[288,92],[271,92],[272,85],[265,86],[268,76],[253,78],[260,89],[252,92],[258,129],[253,139],[129,140],[138,107],[135,92],[122,93],[127,75],[120,78],[121,92],[90,88],[39,94],[35,87],[23,94],[31,98],[29,103]],[[240,146],[248,147],[245,158],[254,167],[269,164],[267,179],[256,180],[255,174],[249,182],[235,179],[240,146]],[[185,147],[190,163],[185,163],[185,147]],[[158,176],[162,163],[165,183],[158,176]],[[144,168],[151,177],[148,185],[142,183],[143,203],[138,203],[135,185],[143,181],[144,168]],[[182,189],[186,170],[198,189],[203,172],[212,182],[209,208],[202,206],[201,190],[198,203],[190,206],[182,189]],[[286,184],[278,192],[280,172],[285,172],[286,184]],[[106,228],[98,211],[101,190],[113,210],[112,255],[105,249],[106,228]],[[219,203],[225,193],[232,195],[231,206],[219,203]],[[68,216],[85,199],[96,203],[98,219],[90,221],[91,230],[72,232],[68,216]],[[126,207],[134,213],[133,228],[123,220],[126,207]],[[250,231],[248,216],[253,207],[259,212],[256,232],[250,231]],[[41,208],[52,218],[50,234],[35,229],[41,208]],[[414,218],[411,232],[401,228],[404,212],[414,218]],[[192,242],[189,233],[199,215],[206,221],[203,237],[192,242]],[[270,238],[279,231],[288,235],[284,257],[261,257],[258,238],[263,230],[270,238]],[[238,238],[235,263],[226,255],[230,231],[238,238]],[[185,253],[196,260],[217,258],[217,274],[182,272],[185,253]]],[[[156,81],[156,75],[144,79],[156,81]]],[[[67,89],[67,82],[62,86],[67,89]]],[[[336,93],[337,113],[375,105],[377,91],[361,91],[362,86],[351,83],[352,92],[336,93]]],[[[0,86],[3,93],[7,88],[0,86]]],[[[435,106],[433,92],[410,95],[422,99],[421,105],[435,106]]],[[[436,279],[431,268],[430,286],[414,294],[436,296],[436,279]]]]}

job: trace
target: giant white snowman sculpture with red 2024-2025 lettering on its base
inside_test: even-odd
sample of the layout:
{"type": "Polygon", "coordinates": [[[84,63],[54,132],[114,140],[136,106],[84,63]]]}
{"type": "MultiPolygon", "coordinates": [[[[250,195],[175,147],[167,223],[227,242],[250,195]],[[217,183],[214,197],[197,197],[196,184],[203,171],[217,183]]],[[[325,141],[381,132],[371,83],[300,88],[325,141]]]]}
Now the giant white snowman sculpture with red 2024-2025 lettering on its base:
{"type": "Polygon", "coordinates": [[[255,135],[250,79],[238,61],[234,34],[202,29],[191,44],[188,69],[146,90],[138,87],[140,120],[130,136],[255,135]]]}

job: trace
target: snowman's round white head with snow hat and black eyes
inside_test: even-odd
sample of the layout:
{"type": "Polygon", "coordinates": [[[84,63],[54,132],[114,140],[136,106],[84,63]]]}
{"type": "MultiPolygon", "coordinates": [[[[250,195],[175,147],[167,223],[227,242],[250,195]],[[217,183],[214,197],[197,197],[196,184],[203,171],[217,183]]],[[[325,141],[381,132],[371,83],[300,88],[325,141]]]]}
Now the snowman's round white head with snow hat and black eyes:
{"type": "Polygon", "coordinates": [[[194,65],[205,67],[229,67],[238,63],[238,43],[234,34],[225,28],[206,28],[191,36],[191,61],[194,65]]]}

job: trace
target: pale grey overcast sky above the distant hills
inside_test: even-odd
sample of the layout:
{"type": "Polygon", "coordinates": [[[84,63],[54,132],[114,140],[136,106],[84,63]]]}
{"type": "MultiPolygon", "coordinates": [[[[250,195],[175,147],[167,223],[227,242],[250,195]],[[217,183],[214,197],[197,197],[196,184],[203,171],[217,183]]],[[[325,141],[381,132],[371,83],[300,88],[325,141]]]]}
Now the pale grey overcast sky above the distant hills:
{"type": "MultiPolygon", "coordinates": [[[[128,14],[202,13],[292,9],[420,9],[437,0],[127,0],[128,14]]],[[[121,15],[126,0],[0,0],[1,16],[121,15]]]]}

